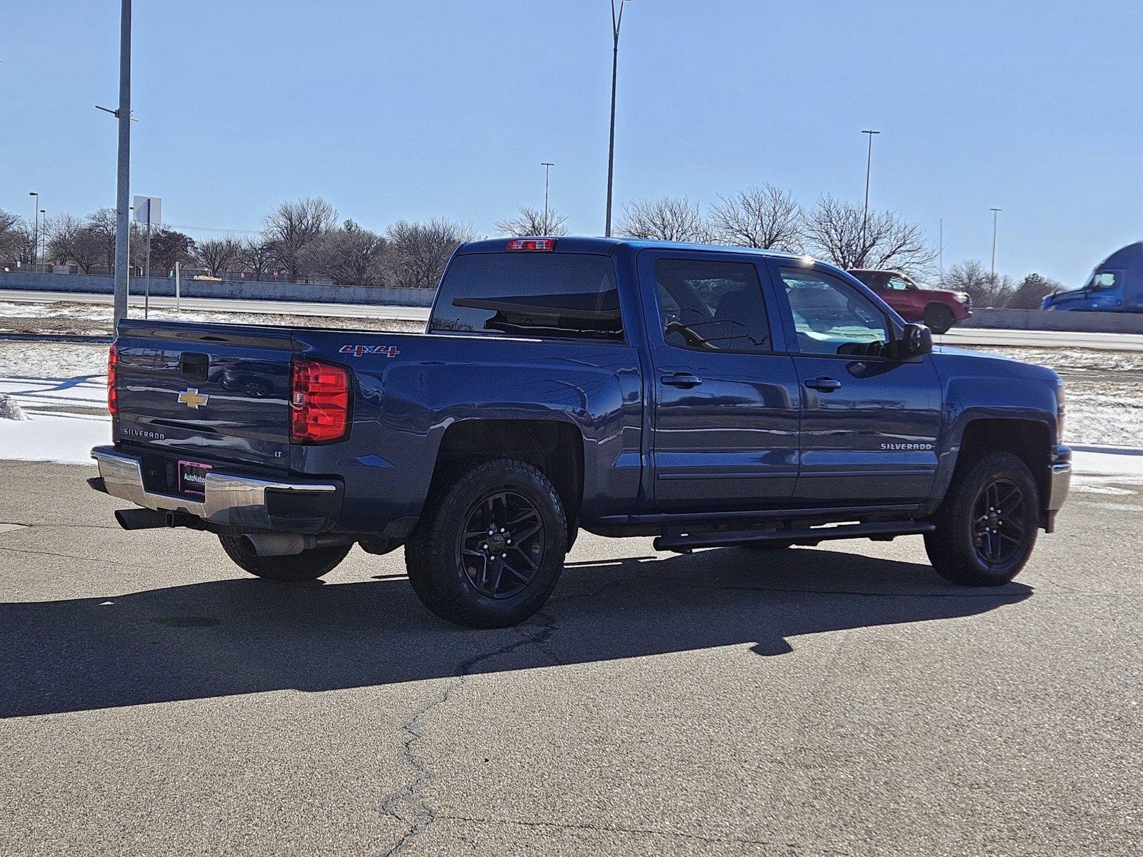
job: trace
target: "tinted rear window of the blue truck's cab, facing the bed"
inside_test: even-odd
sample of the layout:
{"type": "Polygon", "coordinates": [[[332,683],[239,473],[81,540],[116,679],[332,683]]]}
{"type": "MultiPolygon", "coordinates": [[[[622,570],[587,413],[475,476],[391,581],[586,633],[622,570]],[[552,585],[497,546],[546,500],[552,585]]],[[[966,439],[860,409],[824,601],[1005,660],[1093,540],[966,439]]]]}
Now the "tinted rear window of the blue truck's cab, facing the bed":
{"type": "Polygon", "coordinates": [[[479,253],[445,272],[429,329],[559,339],[623,338],[610,256],[479,253]]]}

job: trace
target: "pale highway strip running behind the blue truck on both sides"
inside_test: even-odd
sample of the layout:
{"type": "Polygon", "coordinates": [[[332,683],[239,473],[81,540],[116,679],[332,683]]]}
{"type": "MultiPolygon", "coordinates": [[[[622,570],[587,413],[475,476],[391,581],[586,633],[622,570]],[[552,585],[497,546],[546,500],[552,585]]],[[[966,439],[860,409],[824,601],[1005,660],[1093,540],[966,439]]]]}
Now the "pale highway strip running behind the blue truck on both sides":
{"type": "MultiPolygon", "coordinates": [[[[91,295],[71,291],[23,291],[0,289],[0,301],[15,303],[73,303],[111,304],[111,295],[91,295]]],[[[143,297],[133,295],[131,309],[142,314],[143,297]]],[[[175,309],[173,297],[152,297],[151,306],[175,309]]],[[[311,304],[293,301],[240,301],[235,298],[182,299],[184,310],[206,312],[274,313],[282,315],[327,315],[360,319],[397,319],[402,321],[425,321],[426,306],[381,306],[375,304],[311,304]]],[[[1140,334],[1088,334],[1060,330],[994,330],[991,328],[953,328],[943,336],[933,337],[942,345],[1004,345],[1029,347],[1100,349],[1104,351],[1143,351],[1143,335],[1140,334]]]]}

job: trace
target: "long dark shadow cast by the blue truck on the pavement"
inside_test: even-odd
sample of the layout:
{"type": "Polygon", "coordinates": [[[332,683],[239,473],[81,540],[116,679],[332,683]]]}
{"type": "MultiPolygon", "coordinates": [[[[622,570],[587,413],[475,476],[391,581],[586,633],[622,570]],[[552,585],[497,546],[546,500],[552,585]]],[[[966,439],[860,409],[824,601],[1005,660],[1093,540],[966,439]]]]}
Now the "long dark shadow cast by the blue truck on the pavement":
{"type": "Polygon", "coordinates": [[[0,718],[285,688],[333,690],[974,616],[1021,584],[954,587],[930,568],[822,550],[572,562],[519,628],[438,620],[403,578],[211,580],[0,604],[0,718]],[[542,644],[530,644],[539,642],[542,644]]]}

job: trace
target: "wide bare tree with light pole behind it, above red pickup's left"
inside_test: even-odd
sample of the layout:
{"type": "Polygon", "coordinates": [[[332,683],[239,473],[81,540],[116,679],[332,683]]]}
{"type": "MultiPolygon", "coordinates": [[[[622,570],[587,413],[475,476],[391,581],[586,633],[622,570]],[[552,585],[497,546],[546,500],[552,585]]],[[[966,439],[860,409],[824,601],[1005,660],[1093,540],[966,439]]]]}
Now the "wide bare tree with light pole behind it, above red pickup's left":
{"type": "Polygon", "coordinates": [[[895,211],[870,211],[829,194],[806,216],[806,240],[815,254],[838,267],[894,269],[925,274],[937,250],[916,223],[895,211]],[[864,224],[863,224],[864,221],[864,224]]]}

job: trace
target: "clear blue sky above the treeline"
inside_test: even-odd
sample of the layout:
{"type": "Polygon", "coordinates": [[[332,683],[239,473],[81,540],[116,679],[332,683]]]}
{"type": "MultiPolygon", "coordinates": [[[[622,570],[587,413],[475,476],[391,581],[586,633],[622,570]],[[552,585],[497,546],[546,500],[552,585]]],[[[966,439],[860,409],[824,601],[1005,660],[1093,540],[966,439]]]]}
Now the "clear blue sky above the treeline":
{"type": "MultiPolygon", "coordinates": [[[[607,0],[139,1],[133,193],[173,224],[256,230],[320,194],[382,229],[493,233],[519,205],[602,231],[607,0]]],[[[805,202],[944,218],[951,262],[1077,283],[1143,238],[1143,7],[1135,2],[633,0],[616,198],[712,200],[770,182],[805,202]]],[[[0,13],[0,208],[114,203],[118,0],[0,13]]],[[[26,209],[26,211],[25,211],[26,209]]],[[[206,233],[194,232],[203,235],[206,233]]]]}

